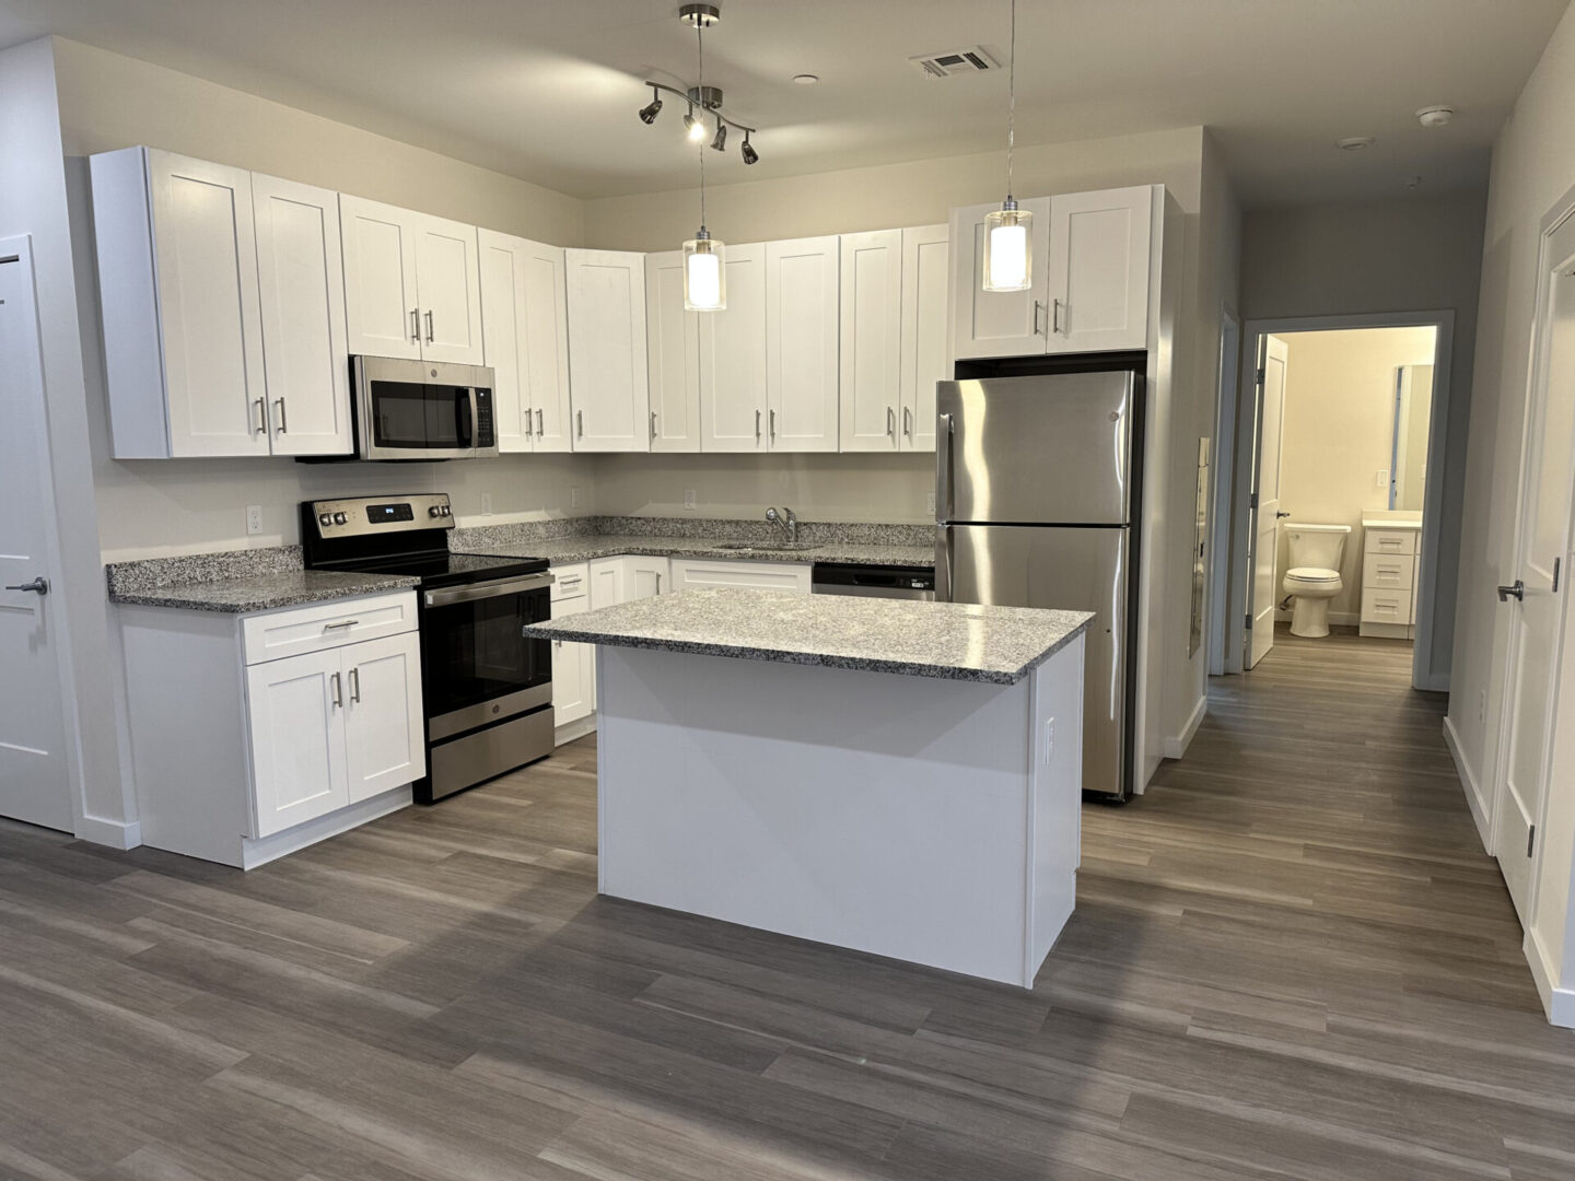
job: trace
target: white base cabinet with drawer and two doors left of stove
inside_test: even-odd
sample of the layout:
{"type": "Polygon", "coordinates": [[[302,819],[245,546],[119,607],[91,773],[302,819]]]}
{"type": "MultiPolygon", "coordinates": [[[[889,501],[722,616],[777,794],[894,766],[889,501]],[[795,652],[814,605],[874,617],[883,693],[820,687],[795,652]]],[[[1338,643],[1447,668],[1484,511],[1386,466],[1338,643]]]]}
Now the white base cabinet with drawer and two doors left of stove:
{"type": "Polygon", "coordinates": [[[145,844],[249,869],[410,803],[427,770],[413,592],[118,611],[145,844]]]}

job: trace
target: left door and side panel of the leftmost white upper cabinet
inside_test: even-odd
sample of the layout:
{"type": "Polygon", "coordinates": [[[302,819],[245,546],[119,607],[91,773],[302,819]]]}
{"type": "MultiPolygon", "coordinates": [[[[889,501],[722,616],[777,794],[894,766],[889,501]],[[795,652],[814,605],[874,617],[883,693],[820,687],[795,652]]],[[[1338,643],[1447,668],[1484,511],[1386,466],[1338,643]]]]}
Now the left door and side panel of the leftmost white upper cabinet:
{"type": "Polygon", "coordinates": [[[90,168],[113,455],[268,455],[252,175],[151,148],[90,168]]]}

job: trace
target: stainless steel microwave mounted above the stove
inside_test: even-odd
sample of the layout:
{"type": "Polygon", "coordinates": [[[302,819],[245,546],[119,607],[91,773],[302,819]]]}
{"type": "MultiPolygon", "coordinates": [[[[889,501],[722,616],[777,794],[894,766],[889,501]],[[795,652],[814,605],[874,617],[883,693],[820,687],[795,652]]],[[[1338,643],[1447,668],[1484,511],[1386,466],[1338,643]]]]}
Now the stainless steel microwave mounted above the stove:
{"type": "Polygon", "coordinates": [[[498,454],[493,372],[403,357],[351,357],[362,460],[474,460],[498,454]]]}

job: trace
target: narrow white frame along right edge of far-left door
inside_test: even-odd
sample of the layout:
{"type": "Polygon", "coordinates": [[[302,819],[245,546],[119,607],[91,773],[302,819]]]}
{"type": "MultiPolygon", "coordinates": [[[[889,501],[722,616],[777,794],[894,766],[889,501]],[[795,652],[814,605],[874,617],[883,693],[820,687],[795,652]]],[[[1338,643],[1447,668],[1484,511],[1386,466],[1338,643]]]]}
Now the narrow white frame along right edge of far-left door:
{"type": "MultiPolygon", "coordinates": [[[[44,505],[44,576],[49,579],[50,594],[58,595],[52,619],[55,646],[55,685],[60,691],[60,734],[65,742],[66,783],[65,792],[71,803],[72,836],[82,835],[82,759],[80,759],[80,718],[74,707],[76,676],[71,665],[71,625],[65,606],[61,562],[60,562],[60,509],[55,502],[55,457],[49,447],[49,387],[44,378],[44,335],[38,315],[38,271],[33,266],[33,236],[22,233],[0,238],[0,266],[22,268],[22,291],[25,302],[22,313],[33,323],[33,381],[24,397],[36,400],[33,424],[43,433],[35,439],[38,454],[38,476],[41,482],[39,501],[44,505]]],[[[25,361],[24,361],[25,364],[25,361]]]]}

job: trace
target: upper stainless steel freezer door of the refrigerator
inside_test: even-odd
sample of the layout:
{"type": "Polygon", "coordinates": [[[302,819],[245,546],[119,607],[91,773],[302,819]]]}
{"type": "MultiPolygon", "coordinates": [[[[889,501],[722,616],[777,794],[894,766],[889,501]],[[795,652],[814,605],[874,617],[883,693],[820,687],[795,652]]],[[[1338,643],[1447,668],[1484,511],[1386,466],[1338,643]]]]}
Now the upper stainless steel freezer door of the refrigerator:
{"type": "Polygon", "coordinates": [[[937,520],[1129,523],[1134,381],[1117,370],[937,383],[937,520]]]}

